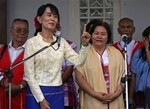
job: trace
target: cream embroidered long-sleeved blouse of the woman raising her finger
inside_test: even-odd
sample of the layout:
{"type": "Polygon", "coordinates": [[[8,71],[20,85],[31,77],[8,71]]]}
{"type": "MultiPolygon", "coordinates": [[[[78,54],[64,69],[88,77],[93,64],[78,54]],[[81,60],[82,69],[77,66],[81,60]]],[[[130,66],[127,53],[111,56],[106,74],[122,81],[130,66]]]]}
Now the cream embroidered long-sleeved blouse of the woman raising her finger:
{"type": "MultiPolygon", "coordinates": [[[[56,37],[53,36],[53,39],[55,41],[56,37]]],[[[48,45],[50,44],[44,42],[42,36],[38,33],[37,36],[27,40],[25,58],[48,45]]],[[[53,47],[57,48],[57,43],[53,47]]],[[[86,60],[89,47],[90,45],[88,47],[82,47],[79,53],[80,55],[78,55],[66,40],[61,38],[61,44],[58,50],[55,51],[52,47],[49,47],[25,62],[25,79],[37,102],[44,99],[40,86],[62,85],[61,66],[64,58],[75,66],[82,65],[86,60]]]]}

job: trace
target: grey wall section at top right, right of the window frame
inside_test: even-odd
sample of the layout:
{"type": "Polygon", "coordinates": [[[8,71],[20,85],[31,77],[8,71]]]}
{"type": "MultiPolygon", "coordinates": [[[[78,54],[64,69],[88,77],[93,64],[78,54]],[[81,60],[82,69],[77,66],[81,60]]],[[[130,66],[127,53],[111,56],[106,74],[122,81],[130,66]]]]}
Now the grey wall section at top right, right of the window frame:
{"type": "Polygon", "coordinates": [[[136,31],[135,39],[142,39],[142,32],[150,26],[150,0],[121,0],[121,17],[130,17],[134,20],[136,31]]]}

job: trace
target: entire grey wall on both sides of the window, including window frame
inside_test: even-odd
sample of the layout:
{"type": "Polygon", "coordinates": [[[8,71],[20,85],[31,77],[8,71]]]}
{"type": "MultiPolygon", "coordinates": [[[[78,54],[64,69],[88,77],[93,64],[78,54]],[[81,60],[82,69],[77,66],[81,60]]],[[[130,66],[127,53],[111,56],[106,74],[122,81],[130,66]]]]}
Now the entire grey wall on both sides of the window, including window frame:
{"type": "MultiPolygon", "coordinates": [[[[114,0],[116,1],[116,0],[114,0]]],[[[33,35],[35,28],[33,18],[36,16],[38,7],[45,3],[53,3],[59,9],[61,16],[62,34],[64,38],[71,39],[78,47],[80,45],[80,25],[79,25],[79,0],[7,0],[7,32],[12,20],[16,17],[26,18],[30,23],[30,36],[33,35]]],[[[117,3],[117,2],[114,2],[117,3]]],[[[120,13],[115,13],[117,20],[115,23],[114,41],[120,40],[117,36],[117,21],[122,17],[130,17],[134,20],[136,32],[134,38],[141,40],[142,31],[150,25],[150,0],[120,0],[118,8],[120,13]]],[[[117,9],[117,7],[116,7],[117,9]]],[[[10,36],[8,35],[8,42],[10,36]]]]}

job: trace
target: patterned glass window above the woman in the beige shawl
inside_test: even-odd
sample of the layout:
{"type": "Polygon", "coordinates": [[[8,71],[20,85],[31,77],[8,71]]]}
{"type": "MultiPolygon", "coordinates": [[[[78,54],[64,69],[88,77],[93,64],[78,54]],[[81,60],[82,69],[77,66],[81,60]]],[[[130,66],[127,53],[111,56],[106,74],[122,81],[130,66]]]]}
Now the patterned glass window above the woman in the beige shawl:
{"type": "Polygon", "coordinates": [[[80,32],[93,19],[107,22],[113,31],[113,11],[113,0],[80,0],[80,32]]]}

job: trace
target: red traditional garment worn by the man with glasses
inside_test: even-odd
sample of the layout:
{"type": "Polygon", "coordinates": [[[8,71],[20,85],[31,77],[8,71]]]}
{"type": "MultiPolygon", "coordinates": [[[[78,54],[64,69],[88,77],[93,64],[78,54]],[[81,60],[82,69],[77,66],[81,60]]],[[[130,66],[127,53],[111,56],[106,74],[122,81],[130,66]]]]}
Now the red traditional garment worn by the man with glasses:
{"type": "MultiPolygon", "coordinates": [[[[1,52],[2,48],[0,48],[1,52]]],[[[24,56],[24,50],[20,55],[11,63],[10,54],[8,48],[6,49],[2,59],[0,60],[0,69],[2,72],[6,71],[10,66],[15,65],[16,63],[22,61],[24,56]]],[[[20,64],[11,70],[14,74],[11,79],[12,83],[21,84],[24,78],[24,65],[20,64]]],[[[8,81],[8,78],[4,74],[4,80],[8,81]]],[[[11,109],[25,109],[25,98],[26,98],[26,89],[22,90],[18,96],[11,97],[11,109]]],[[[9,96],[5,93],[4,88],[0,86],[0,109],[8,109],[9,106],[9,96]]]]}

